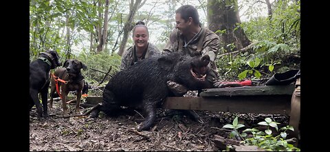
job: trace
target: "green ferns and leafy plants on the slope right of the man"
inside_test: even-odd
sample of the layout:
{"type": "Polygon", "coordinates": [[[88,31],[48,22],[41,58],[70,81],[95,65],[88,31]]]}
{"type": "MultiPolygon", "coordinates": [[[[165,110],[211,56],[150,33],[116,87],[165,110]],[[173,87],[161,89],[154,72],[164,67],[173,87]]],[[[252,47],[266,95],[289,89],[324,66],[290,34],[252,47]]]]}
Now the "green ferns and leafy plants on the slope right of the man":
{"type": "MultiPolygon", "coordinates": [[[[248,1],[243,3],[246,6],[248,1]]],[[[258,11],[252,4],[248,13],[249,10],[258,11]]],[[[300,1],[275,1],[271,18],[259,16],[239,26],[254,45],[244,53],[218,58],[219,75],[238,76],[239,79],[270,77],[274,73],[300,68],[300,63],[292,64],[287,60],[289,55],[300,56],[300,1]],[[259,66],[254,65],[256,58],[261,60],[259,66]]],[[[220,47],[219,51],[223,49],[220,47]]]]}

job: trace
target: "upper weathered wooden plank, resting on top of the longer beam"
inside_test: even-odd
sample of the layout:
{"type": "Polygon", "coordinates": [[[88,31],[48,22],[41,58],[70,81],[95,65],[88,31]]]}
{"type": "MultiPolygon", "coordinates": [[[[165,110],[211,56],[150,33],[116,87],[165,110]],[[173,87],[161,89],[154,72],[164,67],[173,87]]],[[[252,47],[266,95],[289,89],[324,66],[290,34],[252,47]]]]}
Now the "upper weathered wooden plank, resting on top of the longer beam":
{"type": "Polygon", "coordinates": [[[210,88],[200,93],[201,97],[249,96],[249,95],[292,95],[294,85],[287,86],[242,86],[233,88],[210,88]]]}

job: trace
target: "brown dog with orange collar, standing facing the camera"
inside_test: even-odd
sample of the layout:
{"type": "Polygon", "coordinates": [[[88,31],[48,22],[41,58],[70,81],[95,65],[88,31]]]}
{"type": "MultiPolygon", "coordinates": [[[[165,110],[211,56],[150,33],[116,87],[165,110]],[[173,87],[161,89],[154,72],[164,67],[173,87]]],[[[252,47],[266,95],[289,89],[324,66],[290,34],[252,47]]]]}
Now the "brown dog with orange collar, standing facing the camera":
{"type": "Polygon", "coordinates": [[[64,68],[58,68],[54,72],[54,76],[52,77],[52,86],[50,89],[50,108],[53,106],[53,97],[56,91],[56,79],[63,79],[67,81],[67,84],[58,81],[58,90],[61,88],[62,102],[63,102],[63,114],[67,115],[67,94],[70,91],[77,92],[77,102],[76,102],[76,112],[80,113],[79,105],[80,105],[80,97],[82,94],[82,90],[84,87],[84,77],[81,75],[81,68],[83,70],[87,69],[87,66],[78,60],[66,60],[63,64],[64,68]]]}

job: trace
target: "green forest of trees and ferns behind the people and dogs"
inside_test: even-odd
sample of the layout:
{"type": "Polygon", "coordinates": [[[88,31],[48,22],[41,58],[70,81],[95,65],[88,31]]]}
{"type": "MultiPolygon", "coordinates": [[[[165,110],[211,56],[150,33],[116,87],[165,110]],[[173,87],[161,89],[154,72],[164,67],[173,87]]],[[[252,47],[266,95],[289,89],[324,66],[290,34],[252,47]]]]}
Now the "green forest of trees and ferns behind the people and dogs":
{"type": "Polygon", "coordinates": [[[133,45],[137,21],[146,23],[149,42],[163,49],[175,28],[175,10],[186,4],[221,38],[222,79],[260,79],[300,68],[296,0],[30,0],[30,61],[54,49],[62,62],[85,63],[91,84],[106,83],[111,77],[104,73],[118,72],[122,53],[133,45]]]}

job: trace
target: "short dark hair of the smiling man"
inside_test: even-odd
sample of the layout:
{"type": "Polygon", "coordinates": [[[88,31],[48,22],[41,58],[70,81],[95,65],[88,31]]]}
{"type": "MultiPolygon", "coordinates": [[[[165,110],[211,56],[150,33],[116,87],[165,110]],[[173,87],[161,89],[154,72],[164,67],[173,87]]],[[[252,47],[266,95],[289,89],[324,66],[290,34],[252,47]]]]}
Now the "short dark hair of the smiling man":
{"type": "Polygon", "coordinates": [[[181,14],[181,18],[184,19],[184,21],[188,21],[188,18],[192,18],[192,22],[195,23],[195,25],[199,25],[199,15],[197,9],[192,5],[182,5],[180,8],[178,8],[175,13],[181,14]]]}

